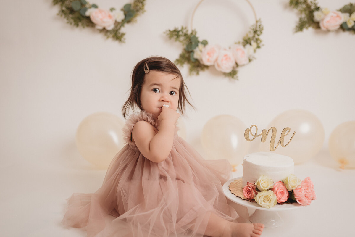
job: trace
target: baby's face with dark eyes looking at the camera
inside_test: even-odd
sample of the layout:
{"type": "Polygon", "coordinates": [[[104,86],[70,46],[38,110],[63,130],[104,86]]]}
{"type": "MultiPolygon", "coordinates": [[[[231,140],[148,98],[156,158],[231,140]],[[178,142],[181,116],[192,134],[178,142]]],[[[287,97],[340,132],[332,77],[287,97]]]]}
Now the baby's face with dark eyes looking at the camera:
{"type": "Polygon", "coordinates": [[[163,105],[169,105],[173,110],[178,109],[179,89],[181,78],[176,78],[174,74],[151,70],[144,77],[144,83],[141,90],[142,108],[159,116],[163,105]]]}

